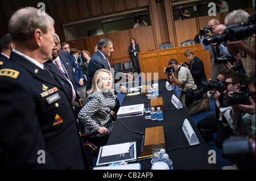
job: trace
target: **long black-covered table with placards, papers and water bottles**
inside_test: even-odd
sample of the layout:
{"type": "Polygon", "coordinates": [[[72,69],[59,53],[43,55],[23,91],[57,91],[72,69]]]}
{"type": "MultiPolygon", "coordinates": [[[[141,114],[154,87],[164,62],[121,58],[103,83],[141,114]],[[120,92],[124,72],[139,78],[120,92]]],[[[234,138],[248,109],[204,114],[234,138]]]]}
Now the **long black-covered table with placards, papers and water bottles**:
{"type": "MultiPolygon", "coordinates": [[[[196,125],[188,115],[187,110],[182,108],[177,110],[171,103],[171,97],[174,91],[167,91],[165,84],[166,80],[161,79],[159,83],[159,96],[163,98],[164,111],[162,121],[147,120],[143,116],[127,117],[119,119],[128,128],[138,132],[145,132],[145,128],[163,126],[164,128],[164,140],[169,157],[172,159],[174,169],[220,169],[216,163],[210,164],[208,158],[212,154],[208,154],[209,147],[201,137],[196,125]],[[193,130],[199,139],[199,145],[189,146],[188,140],[183,133],[182,126],[183,121],[188,119],[193,130]]],[[[152,85],[152,84],[151,84],[152,85]]],[[[150,99],[147,99],[146,95],[137,96],[125,96],[121,106],[128,106],[132,104],[142,104],[147,107],[150,99]],[[144,102],[143,102],[144,101],[144,102]]],[[[118,120],[115,121],[114,128],[110,134],[107,145],[120,144],[123,142],[137,141],[137,157],[141,156],[142,149],[141,134],[130,132],[126,129],[118,120]]],[[[138,163],[138,162],[133,162],[138,163]]],[[[151,169],[151,159],[140,161],[142,170],[151,169]]]]}

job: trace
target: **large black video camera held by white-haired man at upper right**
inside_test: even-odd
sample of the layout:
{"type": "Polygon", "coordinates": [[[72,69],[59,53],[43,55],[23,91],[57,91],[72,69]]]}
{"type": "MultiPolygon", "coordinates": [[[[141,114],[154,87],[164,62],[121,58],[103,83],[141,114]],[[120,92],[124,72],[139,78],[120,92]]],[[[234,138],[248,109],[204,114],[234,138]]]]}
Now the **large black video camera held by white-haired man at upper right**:
{"type": "Polygon", "coordinates": [[[255,14],[250,15],[248,19],[247,22],[227,26],[220,36],[213,34],[208,39],[204,39],[203,44],[207,46],[212,43],[221,44],[221,42],[225,41],[233,42],[253,35],[255,33],[255,14]]]}

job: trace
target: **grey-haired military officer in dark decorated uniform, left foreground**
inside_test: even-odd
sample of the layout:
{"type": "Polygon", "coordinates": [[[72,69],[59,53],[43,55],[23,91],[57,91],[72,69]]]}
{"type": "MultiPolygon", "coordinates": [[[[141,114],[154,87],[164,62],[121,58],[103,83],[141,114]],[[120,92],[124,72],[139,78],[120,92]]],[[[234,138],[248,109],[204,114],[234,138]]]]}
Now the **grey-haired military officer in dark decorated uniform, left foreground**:
{"type": "Polygon", "coordinates": [[[43,65],[52,59],[53,24],[34,7],[9,22],[15,50],[0,70],[0,164],[8,169],[89,168],[67,92],[43,65]]]}

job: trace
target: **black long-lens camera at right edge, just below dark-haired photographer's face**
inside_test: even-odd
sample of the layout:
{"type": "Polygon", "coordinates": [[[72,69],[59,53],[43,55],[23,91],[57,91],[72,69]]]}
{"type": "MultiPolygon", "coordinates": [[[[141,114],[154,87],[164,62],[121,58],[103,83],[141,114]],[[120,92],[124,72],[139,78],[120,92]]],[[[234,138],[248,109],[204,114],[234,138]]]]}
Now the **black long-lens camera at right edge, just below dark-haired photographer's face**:
{"type": "Polygon", "coordinates": [[[228,107],[233,104],[245,104],[250,105],[250,92],[247,91],[245,85],[238,86],[238,91],[233,94],[221,94],[218,98],[218,102],[220,102],[221,107],[228,107]]]}

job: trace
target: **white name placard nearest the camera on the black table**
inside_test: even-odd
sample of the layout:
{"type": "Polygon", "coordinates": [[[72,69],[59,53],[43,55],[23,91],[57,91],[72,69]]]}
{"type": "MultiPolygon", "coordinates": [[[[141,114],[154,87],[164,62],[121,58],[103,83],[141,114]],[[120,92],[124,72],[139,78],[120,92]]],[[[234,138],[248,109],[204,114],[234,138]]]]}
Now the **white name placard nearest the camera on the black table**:
{"type": "Polygon", "coordinates": [[[199,140],[196,136],[196,133],[193,131],[191,124],[187,119],[184,120],[182,130],[187,138],[189,145],[197,145],[199,144],[199,140]]]}

